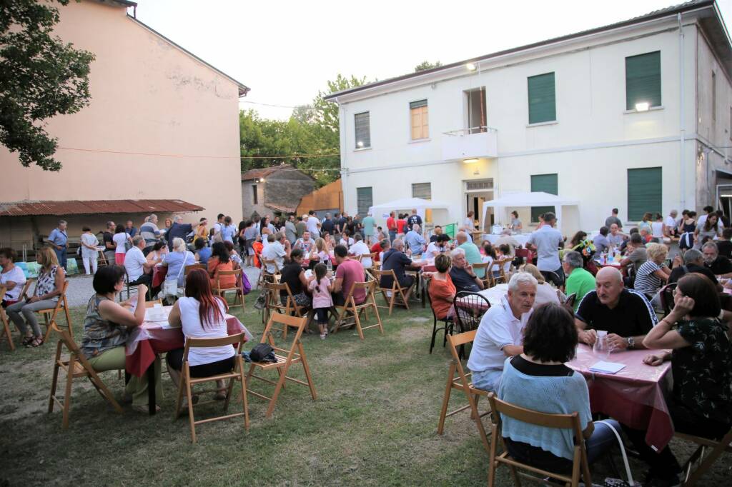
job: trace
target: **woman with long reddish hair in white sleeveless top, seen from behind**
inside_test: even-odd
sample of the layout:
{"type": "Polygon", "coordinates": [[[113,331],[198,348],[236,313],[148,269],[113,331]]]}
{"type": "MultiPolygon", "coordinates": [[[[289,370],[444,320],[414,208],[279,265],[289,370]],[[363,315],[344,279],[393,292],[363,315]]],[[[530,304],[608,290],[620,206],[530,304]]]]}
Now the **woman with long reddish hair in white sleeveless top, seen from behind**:
{"type": "MultiPolygon", "coordinates": [[[[203,269],[194,269],[186,278],[185,297],[176,301],[168,323],[172,326],[182,326],[184,336],[188,338],[214,339],[227,336],[226,328],[227,306],[223,298],[214,296],[211,292],[209,274],[203,269]]],[[[178,385],[183,367],[184,349],[171,350],[166,355],[168,373],[171,380],[178,385]]],[[[225,374],[234,369],[234,347],[191,348],[188,350],[188,366],[190,377],[211,377],[225,374]]],[[[216,399],[226,399],[226,389],[223,380],[217,381],[218,392],[216,399]]],[[[194,396],[194,401],[198,397],[194,396]]]]}

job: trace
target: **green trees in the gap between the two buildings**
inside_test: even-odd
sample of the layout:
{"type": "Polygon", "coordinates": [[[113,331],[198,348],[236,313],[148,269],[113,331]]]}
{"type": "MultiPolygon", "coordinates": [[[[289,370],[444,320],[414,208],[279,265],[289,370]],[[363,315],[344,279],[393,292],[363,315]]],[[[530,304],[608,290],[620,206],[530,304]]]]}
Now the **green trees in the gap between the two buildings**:
{"type": "Polygon", "coordinates": [[[328,81],[327,90],[319,91],[310,105],[296,107],[288,121],[269,120],[261,118],[255,110],[242,110],[239,113],[242,171],[286,163],[313,176],[318,186],[340,178],[338,105],[324,98],[364,83],[366,78],[338,75],[328,81]]]}

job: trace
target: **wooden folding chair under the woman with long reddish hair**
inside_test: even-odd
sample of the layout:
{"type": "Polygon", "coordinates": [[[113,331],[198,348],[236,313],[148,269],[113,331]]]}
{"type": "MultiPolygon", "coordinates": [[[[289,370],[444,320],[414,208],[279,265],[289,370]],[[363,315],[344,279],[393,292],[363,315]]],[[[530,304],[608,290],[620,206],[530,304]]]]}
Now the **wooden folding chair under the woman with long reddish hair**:
{"type": "MultiPolygon", "coordinates": [[[[249,430],[249,403],[247,402],[247,383],[244,380],[244,361],[242,355],[239,353],[244,347],[244,333],[237,333],[236,335],[224,336],[217,339],[193,339],[188,338],[185,341],[185,348],[183,350],[183,367],[181,369],[181,378],[178,383],[178,399],[176,400],[176,413],[173,419],[177,419],[180,416],[181,405],[183,401],[183,390],[185,390],[186,397],[188,398],[188,422],[190,423],[190,438],[195,443],[195,426],[201,423],[211,423],[212,421],[219,421],[229,418],[236,418],[237,416],[244,416],[244,428],[249,430]],[[192,347],[198,348],[209,348],[209,347],[224,347],[225,345],[236,346],[236,353],[234,354],[234,367],[231,371],[225,372],[224,374],[212,375],[209,377],[190,377],[190,364],[188,363],[188,352],[192,347]],[[234,389],[234,382],[238,381],[242,384],[242,412],[234,412],[231,415],[225,414],[223,416],[216,416],[214,418],[206,418],[203,420],[196,421],[193,416],[193,385],[201,384],[203,382],[215,382],[217,380],[227,380],[228,387],[226,388],[226,399],[224,400],[224,413],[228,412],[228,404],[231,399],[231,391],[234,389]]],[[[199,394],[216,392],[217,389],[210,390],[199,390],[199,394]]],[[[210,404],[216,401],[204,401],[195,404],[196,407],[203,404],[210,404]]]]}

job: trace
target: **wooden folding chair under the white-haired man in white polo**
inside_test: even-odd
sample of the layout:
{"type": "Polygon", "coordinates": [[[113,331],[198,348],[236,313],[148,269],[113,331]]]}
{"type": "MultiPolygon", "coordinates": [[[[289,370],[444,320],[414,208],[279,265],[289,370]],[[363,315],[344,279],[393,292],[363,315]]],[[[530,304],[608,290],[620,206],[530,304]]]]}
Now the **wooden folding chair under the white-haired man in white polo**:
{"type": "Polygon", "coordinates": [[[437,425],[437,434],[442,434],[445,428],[445,418],[456,415],[458,412],[465,411],[466,409],[471,410],[471,419],[475,420],[478,426],[478,432],[480,439],[482,439],[485,451],[490,452],[490,445],[488,444],[488,436],[485,434],[485,428],[480,418],[490,414],[490,410],[480,414],[478,412],[478,398],[479,396],[488,396],[487,390],[477,389],[473,387],[472,382],[468,380],[473,373],[465,373],[463,369],[463,363],[460,362],[458,355],[458,346],[471,343],[475,340],[475,334],[477,330],[467,331],[466,333],[458,333],[457,335],[448,335],[447,343],[450,346],[450,353],[452,354],[452,360],[450,361],[450,369],[447,374],[447,386],[445,386],[445,396],[442,399],[442,409],[440,410],[440,420],[437,425]],[[457,376],[455,374],[458,374],[457,376]],[[452,412],[447,412],[447,407],[450,401],[450,394],[453,389],[463,390],[466,397],[468,398],[468,405],[455,409],[452,412]]]}

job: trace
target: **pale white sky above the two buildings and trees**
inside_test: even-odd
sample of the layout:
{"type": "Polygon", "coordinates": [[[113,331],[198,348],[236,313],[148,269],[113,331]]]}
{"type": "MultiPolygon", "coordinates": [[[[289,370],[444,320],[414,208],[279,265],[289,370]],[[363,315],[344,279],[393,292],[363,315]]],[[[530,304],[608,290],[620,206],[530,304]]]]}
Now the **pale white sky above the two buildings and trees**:
{"type": "MultiPolygon", "coordinates": [[[[674,0],[136,0],[137,17],[251,88],[239,107],[287,119],[338,73],[384,80],[679,4],[674,0]],[[267,105],[283,105],[272,107],[267,105]]],[[[732,28],[732,0],[717,0],[732,28]]],[[[130,9],[130,13],[132,10],[130,9]]]]}

